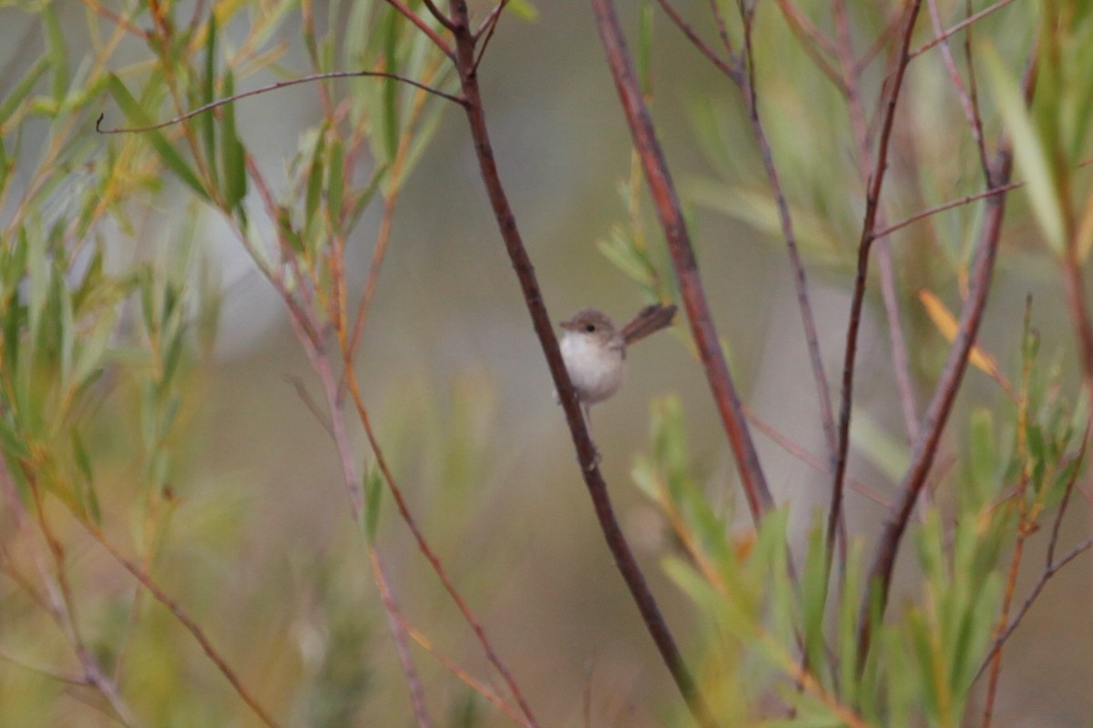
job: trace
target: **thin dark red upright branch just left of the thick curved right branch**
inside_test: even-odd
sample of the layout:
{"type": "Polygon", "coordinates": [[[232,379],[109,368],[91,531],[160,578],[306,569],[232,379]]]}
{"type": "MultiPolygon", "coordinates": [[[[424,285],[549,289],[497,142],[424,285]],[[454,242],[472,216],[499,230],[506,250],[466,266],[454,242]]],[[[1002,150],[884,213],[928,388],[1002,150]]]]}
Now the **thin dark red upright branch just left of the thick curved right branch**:
{"type": "Polygon", "coordinates": [[[889,91],[884,119],[881,124],[881,135],[878,140],[875,164],[867,183],[866,215],[861,225],[861,240],[858,243],[858,272],[854,281],[854,294],[850,299],[850,315],[846,333],[846,353],[843,362],[842,406],[838,417],[838,449],[835,455],[835,474],[832,478],[831,509],[827,513],[827,552],[828,558],[835,542],[835,533],[843,518],[843,487],[846,476],[846,461],[850,446],[850,411],[854,399],[854,369],[858,354],[858,334],[861,329],[861,310],[866,297],[866,282],[869,272],[869,251],[875,240],[874,226],[880,208],[880,194],[888,169],[889,141],[895,124],[896,102],[903,88],[904,73],[907,70],[907,48],[915,29],[915,21],[921,0],[909,0],[905,11],[905,20],[900,44],[900,55],[895,61],[895,72],[889,91]]]}

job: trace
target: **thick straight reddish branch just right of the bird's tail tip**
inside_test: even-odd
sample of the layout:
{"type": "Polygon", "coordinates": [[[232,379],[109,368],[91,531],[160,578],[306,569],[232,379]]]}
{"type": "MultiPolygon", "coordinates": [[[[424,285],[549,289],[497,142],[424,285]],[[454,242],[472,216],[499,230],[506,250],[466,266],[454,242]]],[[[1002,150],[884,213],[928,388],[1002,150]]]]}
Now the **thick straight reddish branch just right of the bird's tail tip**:
{"type": "Polygon", "coordinates": [[[657,207],[657,215],[668,241],[668,250],[675,268],[683,306],[691,321],[691,332],[698,349],[698,357],[706,370],[706,379],[714,394],[721,422],[736,455],[737,468],[752,517],[759,522],[769,510],[774,500],[760,466],[759,455],[752,442],[748,423],[740,406],[740,397],[725,363],[717,329],[698,274],[694,250],[683,214],[665,162],[660,144],[656,139],[653,119],[642,95],[640,84],[634,73],[630,53],[626,50],[622,28],[614,13],[611,0],[591,0],[596,26],[600,41],[607,53],[608,65],[615,82],[615,89],[622,100],[623,111],[630,124],[634,147],[642,159],[645,178],[657,207]]]}

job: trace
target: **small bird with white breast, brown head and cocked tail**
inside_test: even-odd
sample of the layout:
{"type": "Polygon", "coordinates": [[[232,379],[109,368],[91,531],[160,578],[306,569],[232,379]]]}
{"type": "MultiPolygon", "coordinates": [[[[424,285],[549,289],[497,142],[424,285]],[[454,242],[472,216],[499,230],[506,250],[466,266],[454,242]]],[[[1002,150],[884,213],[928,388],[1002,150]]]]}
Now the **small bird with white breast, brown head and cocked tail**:
{"type": "Polygon", "coordinates": [[[616,331],[611,319],[597,309],[583,309],[563,322],[561,348],[569,381],[588,420],[588,407],[603,402],[622,386],[626,371],[626,347],[665,329],[675,317],[674,306],[654,303],[616,331]]]}

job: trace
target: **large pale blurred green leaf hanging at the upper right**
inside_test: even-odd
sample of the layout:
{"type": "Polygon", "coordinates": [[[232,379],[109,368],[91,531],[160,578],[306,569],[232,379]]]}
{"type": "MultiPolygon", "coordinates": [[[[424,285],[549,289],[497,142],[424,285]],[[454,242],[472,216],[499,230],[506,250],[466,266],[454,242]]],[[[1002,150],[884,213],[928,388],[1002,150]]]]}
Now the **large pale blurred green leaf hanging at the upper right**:
{"type": "Polygon", "coordinates": [[[1059,180],[1051,166],[1051,153],[1044,136],[1046,130],[1037,129],[1018,82],[1006,69],[1001,56],[990,44],[984,44],[983,58],[1006,128],[1013,138],[1013,154],[1026,180],[1025,189],[1033,213],[1039,223],[1044,239],[1057,254],[1067,243],[1062,217],[1059,180]]]}

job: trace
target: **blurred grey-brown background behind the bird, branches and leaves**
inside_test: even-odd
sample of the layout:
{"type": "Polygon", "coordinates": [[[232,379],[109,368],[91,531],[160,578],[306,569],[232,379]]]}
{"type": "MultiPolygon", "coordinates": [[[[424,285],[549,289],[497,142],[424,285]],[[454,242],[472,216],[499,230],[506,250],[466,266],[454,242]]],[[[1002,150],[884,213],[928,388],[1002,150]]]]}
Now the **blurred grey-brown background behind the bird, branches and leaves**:
{"type": "MultiPolygon", "coordinates": [[[[680,8],[702,17],[702,5],[680,8]]],[[[85,22],[86,5],[57,8],[66,27],[72,28],[73,40],[82,38],[75,28],[85,22]]],[[[34,38],[40,28],[26,10],[0,9],[0,45],[39,44],[34,38]]],[[[587,3],[554,0],[536,10],[539,17],[533,22],[502,19],[480,71],[502,180],[552,318],[562,321],[579,308],[595,306],[621,323],[646,301],[597,243],[612,225],[625,223],[619,188],[631,175],[628,132],[587,3]]],[[[773,10],[761,12],[773,14],[773,10]]],[[[620,11],[627,27],[634,27],[633,9],[626,5],[620,11]]],[[[998,15],[999,25],[1013,20],[998,15]]],[[[287,68],[303,58],[294,32],[291,24],[284,28],[290,50],[282,63],[287,68]]],[[[73,56],[78,50],[75,44],[73,56]]],[[[775,65],[780,60],[769,56],[765,62],[775,65]]],[[[19,61],[5,58],[4,62],[19,61]]],[[[786,62],[804,68],[800,59],[786,62]]],[[[907,118],[913,119],[902,133],[926,135],[918,140],[922,146],[944,146],[935,134],[952,123],[954,100],[933,93],[948,83],[937,59],[926,57],[920,63],[908,92],[907,118]]],[[[784,246],[777,236],[747,225],[741,215],[694,202],[730,189],[716,184],[764,189],[753,183],[761,168],[741,123],[739,94],[662,15],[656,19],[653,68],[655,120],[675,180],[689,200],[706,290],[742,397],[760,418],[822,462],[816,397],[784,246]],[[720,123],[740,129],[712,140],[702,122],[705,107],[720,115],[720,123]],[[718,155],[750,165],[752,179],[726,180],[718,155]]],[[[774,71],[761,68],[761,73],[767,70],[774,71]]],[[[785,83],[786,74],[778,77],[785,83]]],[[[0,76],[3,83],[7,80],[0,76]]],[[[801,86],[813,83],[820,83],[815,73],[802,71],[801,86]]],[[[809,121],[799,107],[800,88],[771,88],[763,102],[776,128],[775,142],[799,136],[802,144],[814,145],[807,152],[816,164],[851,166],[845,142],[821,146],[819,135],[802,128],[809,121]]],[[[299,129],[318,119],[314,102],[314,88],[299,86],[237,104],[240,135],[271,177],[296,150],[299,129]]],[[[786,153],[788,176],[794,174],[795,154],[786,153]]],[[[894,162],[896,167],[901,164],[914,163],[894,162]]],[[[827,192],[845,196],[845,210],[833,213],[835,219],[828,220],[823,235],[835,247],[824,253],[823,264],[815,250],[807,251],[812,305],[833,387],[849,307],[853,225],[862,199],[854,184],[834,187],[827,192]]],[[[895,183],[888,191],[896,196],[906,192],[895,183]]],[[[924,206],[913,198],[893,202],[893,217],[901,216],[896,211],[924,206]]],[[[125,254],[155,249],[190,214],[179,205],[145,217],[125,254]]],[[[366,276],[378,217],[378,210],[366,212],[350,241],[357,291],[366,276]]],[[[380,443],[426,537],[543,725],[580,726],[586,715],[592,726],[685,725],[675,688],[597,526],[457,108],[445,114],[398,202],[395,220],[357,374],[380,443]]],[[[807,228],[809,220],[799,219],[798,225],[807,228]]],[[[1051,356],[1058,353],[1066,381],[1077,391],[1077,365],[1065,348],[1070,324],[1056,271],[1049,260],[1034,254],[1036,230],[1020,200],[1014,200],[1007,225],[980,344],[1011,378],[1016,375],[1020,321],[1025,297],[1032,295],[1043,349],[1051,356]]],[[[646,229],[650,244],[659,248],[655,224],[646,229]]],[[[302,386],[321,401],[309,365],[280,298],[254,271],[246,251],[211,214],[202,217],[199,231],[222,277],[222,319],[214,353],[195,369],[184,407],[186,463],[179,468],[179,481],[172,484],[177,501],[155,573],[209,631],[245,682],[256,687],[274,713],[286,716],[285,725],[409,725],[406,683],[367,554],[349,513],[337,453],[299,395],[302,386]]],[[[939,228],[929,231],[920,225],[892,240],[904,290],[903,312],[912,332],[919,407],[932,391],[947,345],[918,307],[914,288],[931,284],[954,310],[959,308],[953,279],[931,282],[924,273],[930,256],[940,254],[939,235],[939,228]]],[[[873,282],[855,393],[856,442],[865,438],[870,444],[851,451],[850,474],[891,493],[895,484],[878,462],[877,453],[883,449],[877,442],[894,450],[890,462],[906,457],[907,445],[875,290],[873,282]]],[[[666,395],[679,396],[693,467],[710,498],[737,513],[733,528],[741,538],[749,533],[734,464],[687,342],[681,317],[673,333],[635,347],[627,358],[623,391],[597,406],[592,419],[601,467],[624,529],[684,652],[696,655],[702,645],[696,643],[690,602],[659,568],[659,559],[672,549],[665,524],[631,478],[635,456],[649,447],[650,404],[666,395]]],[[[966,375],[952,421],[966,421],[972,405],[1008,406],[997,385],[976,370],[966,375]]],[[[965,434],[949,432],[939,468],[952,462],[965,434]]],[[[354,431],[353,437],[362,460],[368,461],[363,434],[354,431]]],[[[815,509],[826,503],[827,476],[762,434],[755,437],[775,497],[788,504],[794,530],[801,535],[795,544],[800,548],[815,509]]],[[[111,500],[120,505],[136,488],[130,491],[121,485],[125,447],[115,452],[119,486],[111,500]]],[[[853,491],[848,498],[849,532],[865,539],[868,552],[884,509],[853,491]]],[[[383,509],[378,550],[404,616],[438,649],[478,676],[490,675],[470,630],[389,500],[383,509]]],[[[1070,540],[1088,529],[1081,523],[1086,517],[1084,506],[1076,513],[1080,515],[1072,516],[1065,529],[1070,540]]],[[[125,523],[121,518],[122,528],[125,523]]],[[[1043,540],[1031,545],[1027,558],[1034,565],[1022,575],[1018,595],[1035,580],[1043,545],[1043,540]]],[[[96,584],[106,585],[104,592],[132,587],[101,549],[83,546],[73,559],[85,587],[92,593],[96,584]]],[[[905,571],[902,576],[914,576],[905,571]]],[[[1089,576],[1088,557],[1055,576],[1011,640],[994,725],[1090,725],[1093,631],[1088,628],[1093,588],[1089,576]]],[[[914,582],[905,586],[913,588],[914,582]]],[[[3,626],[35,624],[35,618],[33,606],[11,584],[0,583],[0,599],[4,614],[0,642],[9,651],[19,652],[42,639],[56,640],[3,626]]],[[[893,607],[898,604],[897,595],[893,607]]],[[[153,715],[162,716],[163,723],[152,725],[213,725],[202,720],[227,709],[236,699],[209,669],[200,649],[186,635],[175,634],[171,616],[155,605],[148,609],[162,632],[142,633],[144,648],[131,651],[129,675],[134,683],[129,688],[141,695],[140,704],[161,705],[153,715]],[[178,670],[179,661],[193,685],[190,693],[168,690],[169,680],[162,677],[178,670]]],[[[109,642],[111,630],[125,628],[124,611],[115,617],[96,628],[103,644],[109,642]]],[[[415,649],[415,657],[439,725],[509,725],[430,655],[415,649]]],[[[10,715],[25,718],[11,725],[98,725],[84,723],[86,706],[56,685],[44,687],[40,678],[11,665],[0,665],[0,694],[11,696],[13,706],[24,706],[23,712],[9,708],[10,715]],[[42,709],[43,701],[52,701],[51,707],[42,709]]],[[[500,681],[496,685],[502,691],[500,681]]],[[[252,725],[245,708],[236,715],[232,725],[252,725]]]]}

